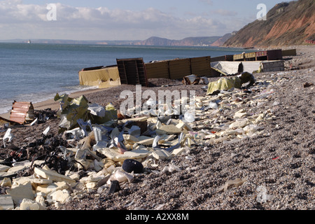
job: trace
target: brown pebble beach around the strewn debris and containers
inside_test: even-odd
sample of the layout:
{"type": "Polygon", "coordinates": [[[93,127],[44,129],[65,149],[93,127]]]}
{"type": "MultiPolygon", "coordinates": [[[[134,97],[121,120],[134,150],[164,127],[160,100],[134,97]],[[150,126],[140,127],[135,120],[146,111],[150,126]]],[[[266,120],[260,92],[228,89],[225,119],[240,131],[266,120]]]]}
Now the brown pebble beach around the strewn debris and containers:
{"type": "MultiPolygon", "coordinates": [[[[197,113],[196,120],[189,125],[192,132],[202,133],[203,138],[195,137],[193,144],[172,158],[142,160],[144,172],[134,174],[130,182],[121,183],[116,193],[109,194],[109,185],[79,190],[72,186],[67,189],[69,197],[65,202],[45,202],[45,209],[314,210],[315,47],[292,48],[297,49],[297,56],[285,58],[286,71],[256,73],[257,82],[248,92],[234,90],[206,96],[204,85],[149,80],[151,86],[143,90],[195,90],[201,102],[220,99],[219,106],[224,109],[197,113]],[[240,119],[246,119],[246,123],[233,126],[240,119]],[[246,131],[244,127],[252,129],[246,131]],[[235,133],[239,128],[243,131],[235,133]]],[[[123,90],[135,91],[135,87],[120,85],[87,90],[71,97],[84,94],[89,102],[102,106],[111,103],[119,109],[123,90]]],[[[48,108],[57,111],[59,103],[51,99],[34,104],[36,111],[48,108]]],[[[5,118],[8,114],[1,116],[5,118]]],[[[58,143],[64,141],[58,125],[59,119],[52,116],[38,125],[13,127],[15,137],[11,144],[28,148],[28,152],[33,151],[37,156],[44,154],[43,147],[30,147],[30,144],[41,139],[47,127],[58,143]]],[[[0,139],[4,134],[0,132],[0,139]]],[[[2,141],[0,147],[2,162],[17,151],[14,147],[4,148],[2,141]]],[[[90,176],[92,172],[93,169],[80,171],[80,176],[90,176]]],[[[29,170],[17,177],[33,174],[29,170]]],[[[1,186],[0,195],[6,195],[10,188],[1,186]]]]}

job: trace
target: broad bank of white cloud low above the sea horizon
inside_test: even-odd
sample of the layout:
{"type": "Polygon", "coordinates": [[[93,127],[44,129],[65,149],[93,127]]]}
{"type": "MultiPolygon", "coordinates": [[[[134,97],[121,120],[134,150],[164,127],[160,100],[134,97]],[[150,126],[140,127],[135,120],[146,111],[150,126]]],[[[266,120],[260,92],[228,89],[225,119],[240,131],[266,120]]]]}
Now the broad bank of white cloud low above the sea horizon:
{"type": "MultiPolygon", "coordinates": [[[[211,3],[208,0],[200,1],[211,3]]],[[[48,21],[46,7],[46,4],[22,4],[19,0],[0,1],[0,38],[119,40],[160,36],[179,39],[218,36],[232,31],[223,24],[225,21],[202,16],[178,18],[155,8],[110,10],[106,7],[72,7],[57,3],[57,21],[48,21]]]]}

